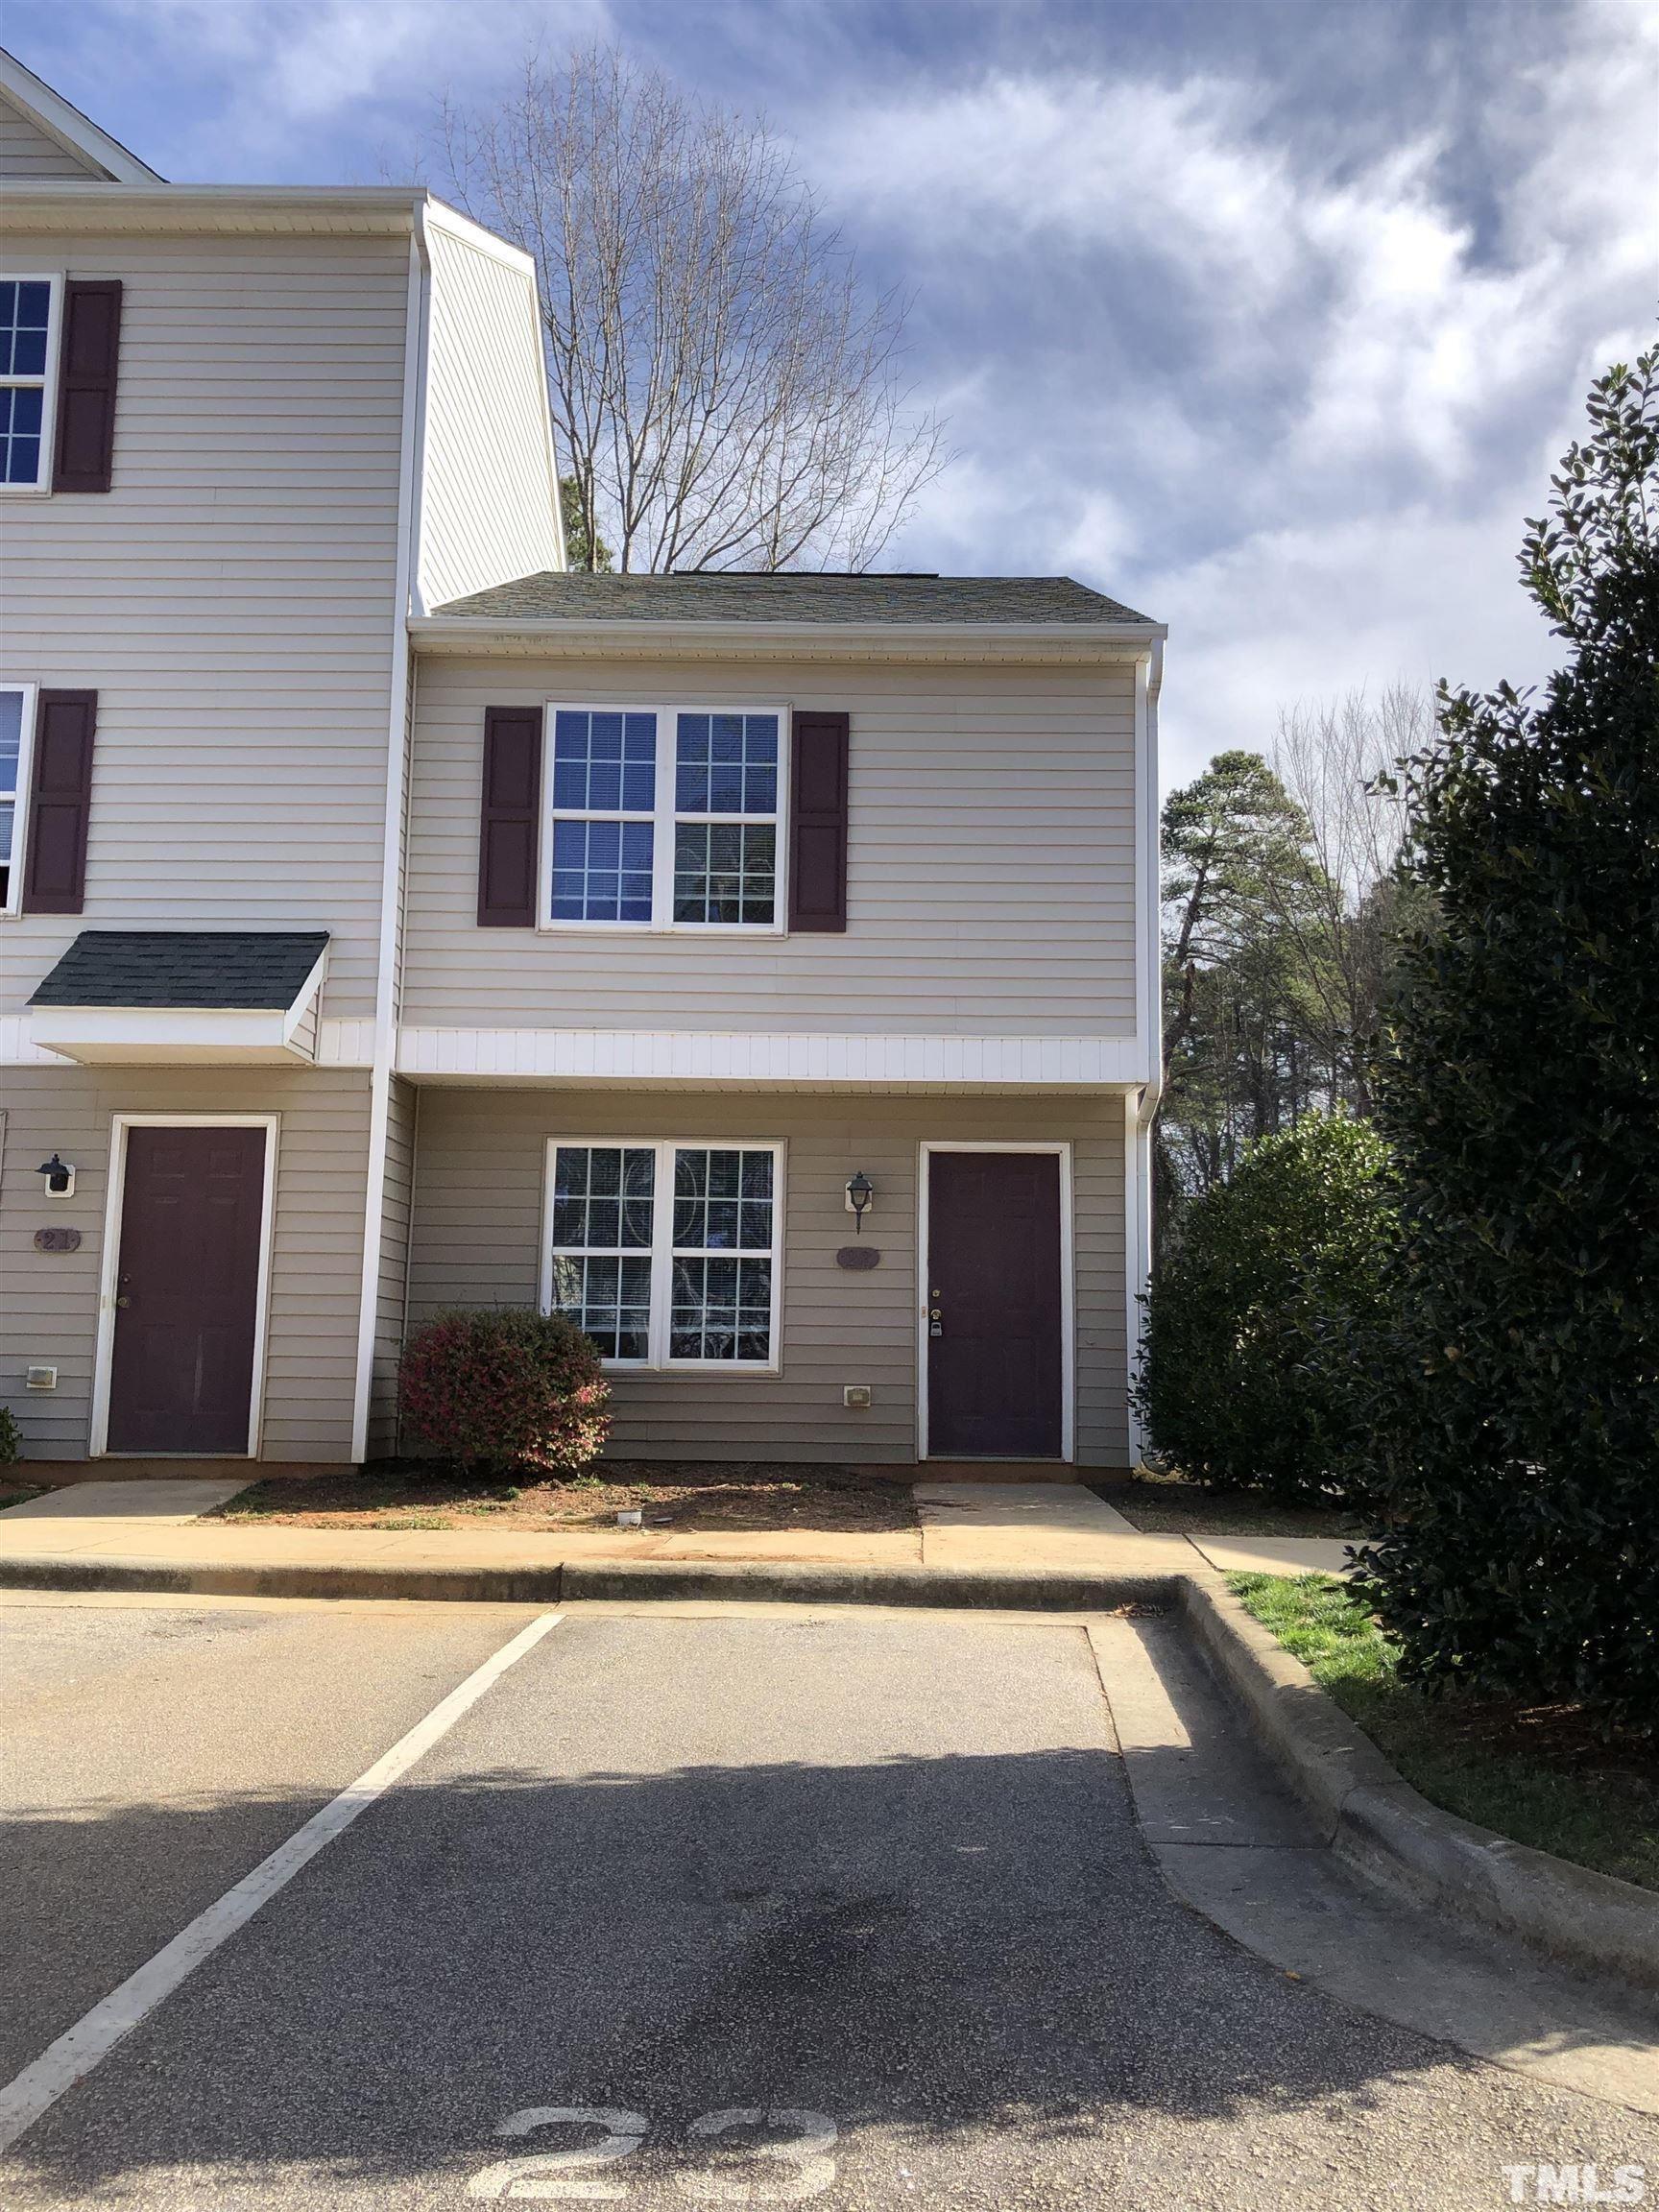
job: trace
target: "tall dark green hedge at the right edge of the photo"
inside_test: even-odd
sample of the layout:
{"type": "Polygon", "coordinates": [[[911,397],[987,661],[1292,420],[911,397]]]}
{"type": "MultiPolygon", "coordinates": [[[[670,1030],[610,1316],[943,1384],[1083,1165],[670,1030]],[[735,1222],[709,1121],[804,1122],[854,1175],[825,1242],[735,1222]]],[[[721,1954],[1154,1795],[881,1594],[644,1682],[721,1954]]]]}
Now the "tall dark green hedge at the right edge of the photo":
{"type": "Polygon", "coordinates": [[[1659,1725],[1659,352],[1588,411],[1520,557],[1566,664],[1409,765],[1367,1595],[1418,1679],[1659,1725]]]}

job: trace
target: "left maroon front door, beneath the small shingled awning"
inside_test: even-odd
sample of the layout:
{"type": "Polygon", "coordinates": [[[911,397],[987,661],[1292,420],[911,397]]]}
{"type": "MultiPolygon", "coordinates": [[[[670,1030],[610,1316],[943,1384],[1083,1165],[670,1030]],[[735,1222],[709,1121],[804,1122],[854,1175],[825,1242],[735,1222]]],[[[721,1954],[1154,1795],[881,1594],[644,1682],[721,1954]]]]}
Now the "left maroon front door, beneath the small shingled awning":
{"type": "Polygon", "coordinates": [[[248,1451],[263,1128],[131,1128],[111,1451],[248,1451]]]}

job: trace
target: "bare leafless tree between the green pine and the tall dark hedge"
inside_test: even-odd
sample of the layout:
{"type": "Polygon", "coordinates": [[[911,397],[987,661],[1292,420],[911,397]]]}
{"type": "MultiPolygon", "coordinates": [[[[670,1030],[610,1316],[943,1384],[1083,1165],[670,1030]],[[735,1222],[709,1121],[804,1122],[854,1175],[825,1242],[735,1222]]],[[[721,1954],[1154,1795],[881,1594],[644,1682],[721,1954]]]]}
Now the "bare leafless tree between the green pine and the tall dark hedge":
{"type": "Polygon", "coordinates": [[[1281,922],[1296,947],[1334,1088],[1371,1110],[1369,1042],[1398,931],[1394,863],[1405,801],[1389,785],[1396,761],[1433,730],[1433,701],[1411,684],[1298,703],[1279,714],[1272,761],[1307,816],[1314,867],[1281,922]]]}

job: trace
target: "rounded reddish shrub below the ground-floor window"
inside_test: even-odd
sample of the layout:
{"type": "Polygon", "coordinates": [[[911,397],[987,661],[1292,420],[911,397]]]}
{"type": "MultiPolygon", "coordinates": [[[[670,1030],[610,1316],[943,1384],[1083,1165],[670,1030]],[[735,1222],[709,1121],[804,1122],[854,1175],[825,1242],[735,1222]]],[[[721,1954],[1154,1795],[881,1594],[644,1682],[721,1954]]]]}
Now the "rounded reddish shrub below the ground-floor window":
{"type": "Polygon", "coordinates": [[[599,1354],[564,1314],[440,1314],[403,1352],[405,1438],[467,1473],[586,1467],[611,1433],[599,1354]]]}

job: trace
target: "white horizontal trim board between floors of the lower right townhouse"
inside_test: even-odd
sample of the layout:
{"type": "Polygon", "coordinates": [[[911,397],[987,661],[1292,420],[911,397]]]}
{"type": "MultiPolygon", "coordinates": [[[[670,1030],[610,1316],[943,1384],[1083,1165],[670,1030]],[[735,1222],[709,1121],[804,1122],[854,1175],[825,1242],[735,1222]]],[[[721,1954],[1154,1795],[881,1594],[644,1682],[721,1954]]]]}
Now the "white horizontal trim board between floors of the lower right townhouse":
{"type": "Polygon", "coordinates": [[[1135,1037],[907,1037],[641,1029],[405,1029],[398,1073],[670,1084],[1004,1084],[1119,1088],[1150,1071],[1135,1037]]]}

